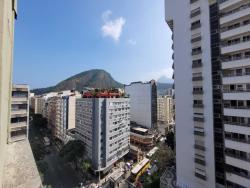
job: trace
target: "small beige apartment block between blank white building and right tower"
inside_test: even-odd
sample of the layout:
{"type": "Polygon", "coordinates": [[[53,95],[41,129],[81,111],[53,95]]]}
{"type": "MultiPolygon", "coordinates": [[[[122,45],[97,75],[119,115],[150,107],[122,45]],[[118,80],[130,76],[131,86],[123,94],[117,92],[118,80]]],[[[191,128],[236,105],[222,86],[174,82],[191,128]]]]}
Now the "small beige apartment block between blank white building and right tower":
{"type": "Polygon", "coordinates": [[[159,96],[157,98],[157,119],[161,123],[173,122],[173,98],[171,96],[159,96]]]}

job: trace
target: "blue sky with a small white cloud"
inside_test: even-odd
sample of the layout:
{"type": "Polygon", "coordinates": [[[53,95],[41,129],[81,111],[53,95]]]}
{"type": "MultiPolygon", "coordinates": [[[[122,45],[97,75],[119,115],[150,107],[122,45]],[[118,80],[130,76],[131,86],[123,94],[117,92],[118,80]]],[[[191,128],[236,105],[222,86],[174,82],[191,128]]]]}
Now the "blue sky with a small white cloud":
{"type": "Polygon", "coordinates": [[[164,0],[21,0],[14,83],[53,86],[90,69],[123,84],[172,76],[164,0]]]}

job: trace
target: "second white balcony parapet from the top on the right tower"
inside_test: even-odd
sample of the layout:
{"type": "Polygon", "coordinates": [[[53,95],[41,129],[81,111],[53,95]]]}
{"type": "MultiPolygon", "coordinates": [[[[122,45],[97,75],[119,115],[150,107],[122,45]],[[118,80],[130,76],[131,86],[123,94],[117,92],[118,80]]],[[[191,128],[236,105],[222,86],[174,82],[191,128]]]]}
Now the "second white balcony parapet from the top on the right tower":
{"type": "MultiPolygon", "coordinates": [[[[233,1],[233,0],[232,0],[233,1]]],[[[220,6],[221,7],[221,6],[220,6]]],[[[220,24],[225,24],[230,21],[234,21],[241,17],[249,15],[250,12],[250,3],[243,4],[238,8],[235,8],[231,11],[228,11],[221,15],[220,24]]]]}

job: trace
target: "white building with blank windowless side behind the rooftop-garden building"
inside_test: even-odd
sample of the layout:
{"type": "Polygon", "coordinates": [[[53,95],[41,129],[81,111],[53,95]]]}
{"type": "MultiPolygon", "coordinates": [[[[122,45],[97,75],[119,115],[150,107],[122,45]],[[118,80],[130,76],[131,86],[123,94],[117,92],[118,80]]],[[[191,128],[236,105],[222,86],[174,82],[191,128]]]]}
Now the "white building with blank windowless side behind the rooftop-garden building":
{"type": "Polygon", "coordinates": [[[125,85],[130,98],[131,121],[151,129],[157,125],[157,89],[154,80],[146,83],[133,82],[125,85]]]}

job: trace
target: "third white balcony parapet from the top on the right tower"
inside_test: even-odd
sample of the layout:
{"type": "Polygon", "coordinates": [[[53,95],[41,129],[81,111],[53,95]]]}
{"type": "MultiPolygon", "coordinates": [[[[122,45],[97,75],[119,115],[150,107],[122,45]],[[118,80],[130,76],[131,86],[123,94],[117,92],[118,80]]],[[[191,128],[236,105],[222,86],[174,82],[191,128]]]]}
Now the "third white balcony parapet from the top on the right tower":
{"type": "Polygon", "coordinates": [[[238,23],[231,27],[221,28],[221,34],[220,34],[221,40],[241,35],[246,31],[250,31],[250,22],[238,23]]]}

